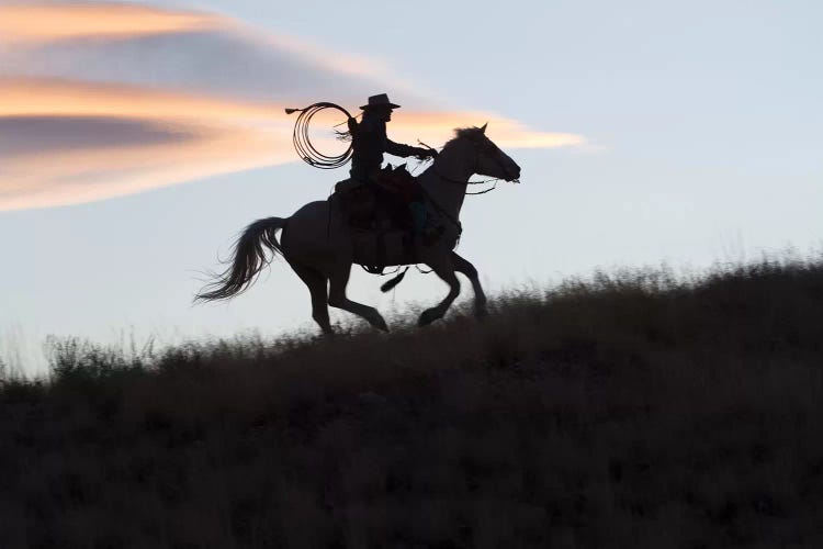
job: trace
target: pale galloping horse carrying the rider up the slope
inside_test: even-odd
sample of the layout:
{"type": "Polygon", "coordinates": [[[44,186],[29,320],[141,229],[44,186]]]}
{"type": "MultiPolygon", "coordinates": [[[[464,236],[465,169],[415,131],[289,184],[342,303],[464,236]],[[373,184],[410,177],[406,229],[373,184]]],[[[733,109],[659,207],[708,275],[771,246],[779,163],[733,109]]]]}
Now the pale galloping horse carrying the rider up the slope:
{"type": "MultiPolygon", "coordinates": [[[[408,249],[404,253],[404,246],[395,246],[382,256],[386,266],[425,264],[449,285],[446,298],[420,314],[418,326],[442,318],[456,299],[460,281],[455,272],[463,273],[472,283],[475,316],[486,314],[486,295],[477,270],[454,251],[462,233],[460,210],[473,175],[506,181],[520,178],[520,167],[486,136],[487,125],[455,130],[455,136],[417,178],[427,199],[428,215],[439,217],[442,223],[440,237],[433,243],[415,237],[412,255],[408,249]]],[[[288,219],[268,217],[251,223],[234,246],[230,266],[196,294],[195,302],[227,300],[245,292],[280,255],[308,288],[312,317],[324,334],[334,333],[328,305],[353,313],[374,328],[387,332],[385,320],[374,307],[346,295],[352,265],[375,265],[379,245],[373,234],[349,225],[334,198],[311,202],[288,219]],[[278,231],[282,231],[280,240],[278,231]]]]}

